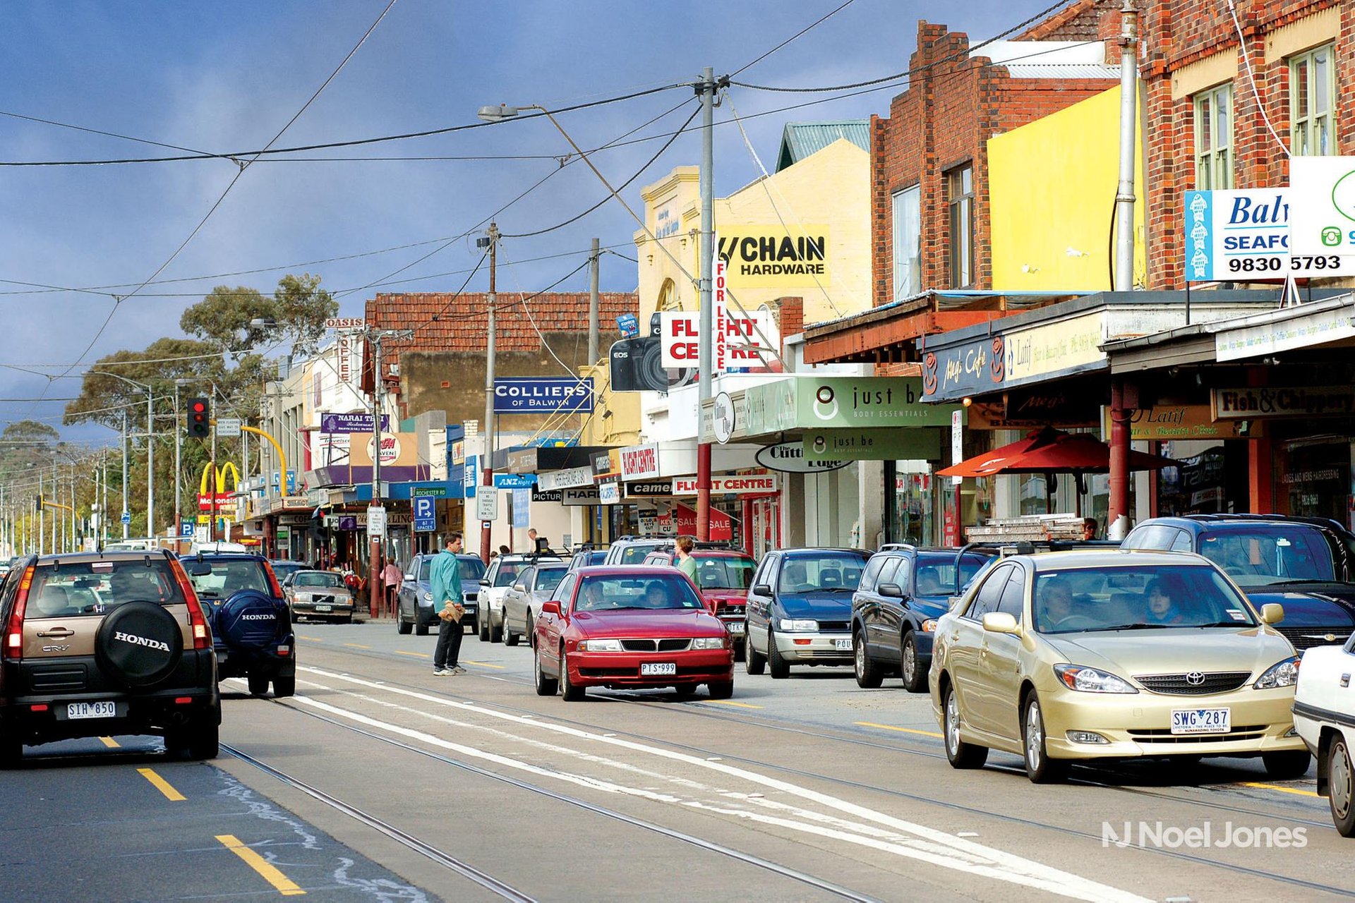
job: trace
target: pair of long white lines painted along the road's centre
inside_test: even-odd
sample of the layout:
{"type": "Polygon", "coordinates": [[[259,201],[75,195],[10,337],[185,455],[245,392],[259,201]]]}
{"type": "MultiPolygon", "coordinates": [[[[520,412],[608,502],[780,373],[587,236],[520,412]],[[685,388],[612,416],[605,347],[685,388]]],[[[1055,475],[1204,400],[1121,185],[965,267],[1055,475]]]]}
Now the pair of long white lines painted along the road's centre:
{"type": "MultiPolygon", "coordinates": [[[[791,830],[808,831],[808,833],[814,833],[814,834],[824,834],[825,831],[828,831],[829,834],[824,834],[824,835],[831,835],[831,837],[836,837],[837,834],[841,834],[841,837],[839,837],[837,839],[843,839],[843,841],[847,841],[847,842],[851,842],[851,843],[860,843],[860,845],[864,845],[864,846],[873,846],[875,849],[882,849],[882,850],[886,850],[886,852],[890,852],[890,853],[894,853],[894,854],[898,854],[898,856],[905,856],[905,857],[911,857],[911,858],[923,860],[923,861],[931,862],[932,865],[938,865],[938,866],[942,866],[942,868],[948,868],[948,869],[954,869],[954,871],[959,871],[959,872],[966,872],[966,873],[970,873],[970,875],[978,875],[978,876],[984,876],[984,877],[992,877],[992,879],[1007,881],[1007,883],[1011,883],[1011,884],[1019,884],[1019,885],[1023,885],[1023,887],[1031,887],[1031,888],[1047,891],[1050,894],[1058,894],[1061,896],[1068,896],[1068,898],[1072,898],[1072,899],[1095,900],[1095,902],[1107,900],[1107,902],[1123,902],[1123,903],[1144,903],[1148,899],[1148,898],[1138,896],[1137,894],[1131,894],[1129,891],[1121,891],[1119,888],[1114,888],[1114,887],[1110,887],[1107,884],[1100,884],[1100,883],[1093,881],[1091,879],[1084,879],[1084,877],[1073,875],[1070,872],[1064,872],[1061,869],[1056,869],[1056,868],[1043,865],[1041,862],[1035,862],[1034,860],[1027,860],[1027,858],[1016,856],[1014,853],[1007,853],[1004,850],[992,849],[992,847],[984,846],[981,843],[976,843],[976,842],[969,841],[969,839],[957,838],[953,834],[948,834],[948,833],[938,830],[938,829],[927,827],[924,824],[916,824],[913,822],[906,822],[904,819],[898,819],[898,818],[894,818],[892,815],[886,815],[885,812],[878,812],[878,811],[867,808],[864,806],[858,806],[855,803],[850,803],[847,800],[843,800],[843,799],[839,799],[839,797],[835,797],[835,796],[829,796],[829,795],[821,793],[818,791],[813,791],[813,789],[809,789],[809,788],[805,788],[805,787],[799,787],[797,784],[791,784],[791,783],[783,781],[780,778],[770,777],[767,774],[760,774],[757,772],[751,772],[748,769],[743,769],[743,768],[736,768],[736,766],[732,766],[732,765],[726,765],[724,762],[711,762],[711,761],[706,761],[706,759],[695,757],[695,755],[688,755],[686,753],[678,753],[678,751],[673,751],[673,750],[665,750],[665,749],[661,749],[661,747],[657,747],[657,746],[649,746],[646,743],[638,743],[635,741],[627,741],[627,739],[622,739],[622,738],[617,738],[617,736],[606,736],[606,735],[602,735],[602,734],[593,734],[593,732],[584,731],[584,730],[580,730],[580,728],[576,728],[576,727],[569,727],[569,726],[565,726],[565,724],[551,724],[551,723],[542,722],[542,720],[527,719],[527,718],[523,718],[520,715],[514,715],[514,713],[509,713],[509,712],[496,712],[496,711],[492,711],[492,709],[488,709],[488,708],[484,708],[484,707],[473,707],[473,705],[469,705],[469,704],[458,701],[458,700],[449,700],[449,699],[439,697],[439,696],[431,696],[428,693],[420,693],[420,692],[416,692],[416,690],[408,690],[408,689],[393,688],[393,686],[381,686],[381,685],[377,685],[373,681],[350,677],[347,674],[335,674],[332,671],[325,671],[325,670],[316,669],[316,667],[305,667],[305,669],[298,669],[298,670],[305,670],[308,673],[318,674],[318,676],[328,677],[328,678],[344,680],[344,681],[348,681],[348,682],[355,684],[358,686],[366,686],[366,688],[382,690],[382,692],[386,692],[386,693],[396,693],[396,695],[400,695],[400,696],[405,696],[405,697],[409,697],[409,699],[416,699],[416,700],[420,700],[423,703],[430,703],[430,704],[434,704],[434,705],[442,705],[442,707],[446,707],[446,708],[473,709],[473,711],[476,711],[476,712],[478,712],[478,713],[481,713],[484,716],[489,716],[489,718],[496,718],[496,719],[505,720],[505,722],[518,723],[518,724],[522,724],[524,727],[533,727],[535,730],[546,730],[546,731],[551,731],[551,732],[556,732],[556,734],[564,734],[566,736],[573,736],[573,738],[577,738],[577,739],[585,739],[585,741],[593,741],[593,742],[599,742],[599,743],[607,743],[607,745],[618,746],[618,747],[627,749],[627,750],[631,750],[631,751],[635,751],[635,753],[642,753],[642,754],[648,754],[648,755],[657,755],[660,758],[667,758],[667,759],[671,759],[671,761],[684,762],[687,765],[692,765],[692,766],[696,766],[696,768],[710,769],[710,770],[722,773],[722,774],[725,774],[728,777],[733,777],[733,778],[749,781],[749,783],[753,783],[753,784],[757,784],[757,785],[762,785],[762,787],[766,787],[766,788],[770,788],[770,789],[779,791],[782,793],[787,793],[790,796],[799,797],[801,800],[817,803],[817,804],[820,804],[822,807],[832,808],[832,810],[836,810],[839,812],[843,812],[843,814],[847,814],[847,815],[851,815],[851,816],[855,816],[855,818],[859,818],[859,819],[863,819],[863,820],[867,820],[867,822],[874,822],[875,824],[883,826],[886,829],[892,829],[892,831],[888,831],[885,834],[892,834],[893,831],[900,831],[902,834],[912,835],[912,838],[906,838],[906,843],[909,843],[909,845],[904,845],[904,843],[900,843],[900,842],[888,842],[888,841],[879,839],[877,837],[863,837],[862,834],[848,834],[846,831],[839,831],[837,829],[827,829],[827,827],[821,827],[818,824],[809,824],[806,822],[794,822],[794,820],[790,820],[790,819],[776,819],[776,820],[771,822],[771,823],[778,823],[779,824],[782,820],[785,820],[786,823],[782,824],[782,826],[783,827],[789,827],[791,830]]],[[[302,703],[302,704],[306,704],[306,705],[312,705],[314,708],[321,708],[321,709],[328,711],[328,712],[331,712],[333,715],[337,715],[340,718],[348,718],[351,720],[356,720],[359,723],[364,723],[364,724],[369,724],[371,727],[379,727],[379,728],[386,730],[386,731],[392,731],[392,732],[401,734],[401,735],[405,735],[405,736],[416,738],[420,742],[430,743],[432,746],[439,746],[439,747],[443,747],[443,749],[450,749],[450,750],[458,751],[458,753],[461,753],[463,755],[472,755],[472,757],[476,757],[476,758],[482,758],[482,759],[486,759],[486,761],[492,761],[492,762],[496,762],[496,764],[503,765],[505,768],[514,768],[514,769],[527,770],[527,772],[530,772],[533,774],[537,774],[537,776],[541,776],[541,777],[550,777],[550,778],[556,778],[556,780],[565,780],[565,781],[570,781],[570,783],[576,783],[576,784],[584,784],[584,785],[599,788],[599,789],[602,789],[606,785],[606,789],[611,789],[612,792],[650,796],[650,793],[648,791],[637,791],[634,788],[625,788],[625,787],[621,787],[621,785],[612,785],[612,784],[608,784],[606,781],[599,781],[596,778],[588,778],[588,777],[568,774],[568,773],[564,773],[564,772],[551,772],[551,770],[541,769],[541,768],[538,768],[535,765],[528,765],[526,762],[520,762],[518,759],[512,759],[512,758],[508,758],[508,757],[504,757],[504,755],[499,755],[499,754],[495,754],[495,753],[488,753],[488,751],[484,751],[484,750],[480,750],[480,749],[476,749],[476,747],[470,747],[470,746],[463,746],[463,745],[459,745],[459,743],[451,743],[449,741],[443,741],[440,738],[424,734],[421,731],[413,731],[411,728],[400,727],[397,724],[386,724],[386,723],[382,723],[382,722],[377,722],[375,719],[370,719],[370,718],[367,718],[364,715],[359,715],[356,712],[348,712],[347,709],[341,709],[341,708],[325,704],[325,703],[318,703],[316,700],[310,700],[310,699],[306,699],[306,697],[294,697],[294,701],[302,703]]],[[[606,759],[603,759],[603,761],[606,761],[606,759]]],[[[634,766],[630,766],[630,768],[634,768],[634,766]]],[[[630,769],[627,769],[627,770],[630,770],[630,769]]],[[[672,797],[672,796],[668,796],[668,795],[656,795],[656,796],[661,796],[663,797],[661,801],[679,801],[678,797],[672,797]]],[[[687,803],[687,806],[692,806],[692,804],[687,803]]],[[[703,804],[698,803],[696,806],[701,806],[702,808],[705,808],[703,804]]],[[[762,814],[755,814],[755,812],[747,812],[747,811],[741,811],[741,810],[729,810],[725,814],[730,814],[730,815],[734,815],[737,818],[747,818],[747,819],[752,819],[752,820],[764,820],[764,819],[771,819],[772,818],[772,816],[767,816],[767,815],[762,815],[762,814]]],[[[813,815],[813,814],[809,814],[809,815],[813,815]]],[[[818,820],[821,818],[822,816],[816,816],[814,820],[818,820]]],[[[837,819],[832,819],[832,820],[837,822],[837,819]]],[[[844,824],[851,824],[851,823],[844,823],[844,824]]],[[[863,826],[852,826],[852,827],[854,827],[854,830],[862,830],[863,826]]],[[[878,829],[877,829],[877,831],[878,831],[878,829]]],[[[873,833],[875,833],[875,831],[873,831],[873,833]]]]}

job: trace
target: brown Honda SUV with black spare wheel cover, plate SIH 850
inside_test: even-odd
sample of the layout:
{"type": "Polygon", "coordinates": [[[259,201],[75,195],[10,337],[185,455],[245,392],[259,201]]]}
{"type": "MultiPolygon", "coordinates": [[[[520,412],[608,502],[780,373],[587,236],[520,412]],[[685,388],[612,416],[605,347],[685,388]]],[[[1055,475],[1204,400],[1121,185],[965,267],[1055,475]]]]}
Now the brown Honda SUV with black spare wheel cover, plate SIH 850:
{"type": "Polygon", "coordinates": [[[211,631],[169,554],[26,558],[0,586],[0,765],[26,743],[112,734],[215,758],[211,631]]]}

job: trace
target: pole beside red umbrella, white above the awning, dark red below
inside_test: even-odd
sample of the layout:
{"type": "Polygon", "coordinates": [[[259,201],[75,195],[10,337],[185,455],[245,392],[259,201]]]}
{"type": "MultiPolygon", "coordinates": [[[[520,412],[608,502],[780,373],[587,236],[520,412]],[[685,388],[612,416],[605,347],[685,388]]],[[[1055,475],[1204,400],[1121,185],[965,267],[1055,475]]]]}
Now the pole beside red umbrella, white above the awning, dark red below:
{"type": "MultiPolygon", "coordinates": [[[[1115,291],[1134,290],[1134,131],[1138,119],[1138,12],[1134,0],[1121,7],[1119,51],[1119,188],[1115,192],[1115,291]]],[[[1125,379],[1111,380],[1110,505],[1106,537],[1129,532],[1129,417],[1125,379]]]]}

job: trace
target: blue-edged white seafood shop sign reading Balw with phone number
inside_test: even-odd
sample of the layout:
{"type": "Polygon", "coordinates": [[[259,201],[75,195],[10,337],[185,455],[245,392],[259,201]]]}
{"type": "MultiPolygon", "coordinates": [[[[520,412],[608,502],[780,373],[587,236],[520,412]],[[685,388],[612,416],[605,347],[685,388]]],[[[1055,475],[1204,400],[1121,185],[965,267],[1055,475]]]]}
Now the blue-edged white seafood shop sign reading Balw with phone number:
{"type": "Polygon", "coordinates": [[[1286,188],[1187,191],[1186,280],[1283,279],[1289,272],[1286,188]]]}

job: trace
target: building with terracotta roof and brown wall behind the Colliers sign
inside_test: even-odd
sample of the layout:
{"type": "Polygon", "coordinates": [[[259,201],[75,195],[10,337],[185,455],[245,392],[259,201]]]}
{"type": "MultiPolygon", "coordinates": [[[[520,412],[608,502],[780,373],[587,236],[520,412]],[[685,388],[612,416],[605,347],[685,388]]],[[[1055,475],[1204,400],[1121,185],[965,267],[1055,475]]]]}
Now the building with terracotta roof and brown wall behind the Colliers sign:
{"type": "MultiPolygon", "coordinates": [[[[602,292],[599,315],[603,349],[621,314],[634,314],[633,292],[602,292]]],[[[397,395],[401,417],[447,412],[447,422],[482,420],[485,414],[485,294],[378,294],[367,302],[371,329],[412,329],[412,338],[382,344],[386,391],[397,395]]],[[[588,356],[588,292],[499,292],[495,372],[499,376],[564,376],[593,361],[588,356]],[[558,360],[557,360],[558,357],[558,360]],[[564,364],[564,366],[562,366],[564,364]]],[[[371,355],[363,352],[363,361],[371,355]]],[[[364,364],[362,389],[373,387],[364,364]]],[[[539,424],[522,414],[523,428],[539,424]]]]}

